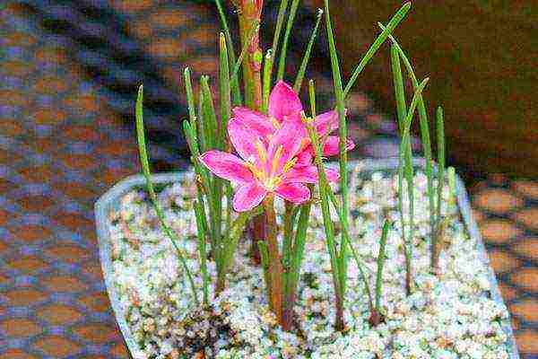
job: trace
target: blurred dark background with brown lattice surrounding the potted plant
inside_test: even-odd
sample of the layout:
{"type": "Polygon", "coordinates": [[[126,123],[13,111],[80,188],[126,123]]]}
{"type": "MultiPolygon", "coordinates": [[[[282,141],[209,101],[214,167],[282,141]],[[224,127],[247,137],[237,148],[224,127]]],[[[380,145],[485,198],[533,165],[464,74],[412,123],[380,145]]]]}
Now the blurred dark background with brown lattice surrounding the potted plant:
{"type": "MultiPolygon", "coordinates": [[[[102,281],[92,206],[139,171],[134,98],[154,171],[185,169],[181,71],[217,74],[213,1],[19,0],[0,4],[0,358],[125,358],[102,281]]],[[[401,1],[333,1],[345,78],[401,1]]],[[[263,43],[278,2],[265,0],[263,43]]],[[[319,0],[291,39],[295,74],[319,0]]],[[[235,28],[236,15],[227,15],[235,28]]],[[[449,164],[472,198],[524,358],[538,358],[538,66],[535,1],[417,0],[395,31],[428,106],[445,109],[449,164]]],[[[333,105],[324,31],[308,77],[333,105]]],[[[356,158],[395,155],[388,47],[348,101],[356,158]]],[[[292,78],[292,77],[291,77],[292,78]]],[[[420,155],[420,138],[413,141],[420,155]]]]}

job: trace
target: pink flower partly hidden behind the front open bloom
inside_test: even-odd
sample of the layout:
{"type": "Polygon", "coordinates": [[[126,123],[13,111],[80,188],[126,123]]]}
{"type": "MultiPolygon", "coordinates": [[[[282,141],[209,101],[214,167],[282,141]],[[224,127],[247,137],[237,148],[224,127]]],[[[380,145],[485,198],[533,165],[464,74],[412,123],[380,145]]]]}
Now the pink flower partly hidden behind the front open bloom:
{"type": "MultiPolygon", "coordinates": [[[[310,145],[310,139],[305,125],[302,123],[301,112],[303,108],[299,96],[293,91],[287,83],[279,81],[273,87],[269,96],[268,115],[244,107],[233,109],[234,117],[245,127],[254,131],[257,136],[267,139],[273,136],[286,122],[298,124],[296,136],[303,138],[301,148],[298,154],[298,164],[308,165],[312,162],[313,149],[310,145]]],[[[338,113],[331,110],[314,119],[314,127],[317,129],[317,136],[325,140],[323,146],[323,155],[332,156],[339,153],[339,137],[330,136],[329,134],[338,128],[338,113]]],[[[351,140],[347,141],[346,150],[350,151],[355,144],[351,140]]]]}

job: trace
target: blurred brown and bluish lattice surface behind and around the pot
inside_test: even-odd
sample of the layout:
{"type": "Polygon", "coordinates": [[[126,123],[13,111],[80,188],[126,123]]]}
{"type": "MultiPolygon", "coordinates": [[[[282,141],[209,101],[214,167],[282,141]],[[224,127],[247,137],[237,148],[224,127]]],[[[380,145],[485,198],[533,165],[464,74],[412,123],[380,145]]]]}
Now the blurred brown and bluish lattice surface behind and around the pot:
{"type": "MultiPolygon", "coordinates": [[[[157,0],[109,6],[127,24],[132,44],[148,54],[155,75],[177,94],[178,113],[184,113],[183,66],[216,77],[213,7],[157,0]]],[[[69,18],[68,7],[50,9],[69,18]]],[[[6,30],[0,65],[0,358],[124,358],[102,282],[92,206],[106,188],[138,171],[127,111],[134,101],[87,68],[100,66],[127,83],[136,82],[136,74],[122,72],[109,58],[81,52],[80,43],[46,31],[41,21],[18,3],[0,14],[6,30]]],[[[311,71],[310,76],[318,89],[329,91],[327,74],[311,71]]],[[[349,105],[351,132],[361,144],[357,153],[394,154],[394,121],[377,114],[361,93],[351,94],[349,105]]],[[[164,145],[178,144],[166,139],[171,131],[177,136],[178,118],[167,116],[152,123],[151,137],[160,140],[152,156],[159,159],[157,168],[178,169],[186,162],[164,145]]],[[[538,185],[482,183],[474,190],[474,206],[515,315],[519,345],[535,354],[538,185]]]]}

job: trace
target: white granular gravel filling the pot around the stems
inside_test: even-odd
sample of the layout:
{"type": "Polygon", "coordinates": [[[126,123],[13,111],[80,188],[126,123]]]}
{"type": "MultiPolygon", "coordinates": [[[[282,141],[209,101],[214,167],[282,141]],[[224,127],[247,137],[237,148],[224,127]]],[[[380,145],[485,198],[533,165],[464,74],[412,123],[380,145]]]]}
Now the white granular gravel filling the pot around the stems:
{"type": "MultiPolygon", "coordinates": [[[[221,359],[508,358],[508,336],[501,327],[508,320],[508,311],[490,299],[488,268],[480,259],[477,243],[466,234],[457,207],[448,200],[447,188],[442,209],[449,224],[439,260],[441,274],[433,276],[429,270],[426,180],[421,173],[414,179],[414,293],[406,297],[397,180],[381,172],[364,182],[357,173],[351,179],[351,208],[360,214],[351,211],[352,238],[368,267],[372,290],[381,225],[386,217],[393,221],[386,243],[381,299],[385,323],[369,327],[367,296],[350,259],[345,298],[348,330],[344,335],[334,331],[332,276],[318,206],[313,206],[299,283],[298,330],[285,333],[276,325],[267,307],[261,269],[253,267],[247,257],[247,240],[241,241],[228,289],[213,301],[212,310],[194,308],[169,239],[161,232],[143,191],[134,191],[110,213],[109,229],[114,290],[140,346],[133,353],[135,359],[195,358],[204,346],[207,358],[221,359]]],[[[160,199],[169,225],[190,254],[188,265],[197,273],[191,202],[194,182],[192,173],[187,174],[184,180],[165,188],[160,199]]],[[[282,203],[277,205],[282,213],[282,203]]],[[[214,274],[213,262],[208,265],[214,274]]],[[[196,276],[195,281],[201,288],[201,278],[196,276]]]]}

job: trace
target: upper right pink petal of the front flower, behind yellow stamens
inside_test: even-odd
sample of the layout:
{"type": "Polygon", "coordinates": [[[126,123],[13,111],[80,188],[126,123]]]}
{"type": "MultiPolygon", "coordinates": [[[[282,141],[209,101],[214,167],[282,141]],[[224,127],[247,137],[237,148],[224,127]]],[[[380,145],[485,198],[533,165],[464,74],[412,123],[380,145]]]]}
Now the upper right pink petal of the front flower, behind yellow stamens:
{"type": "Polygon", "coordinates": [[[305,128],[297,122],[284,122],[276,133],[271,137],[269,141],[269,148],[267,150],[268,158],[268,170],[271,171],[273,166],[273,175],[279,175],[282,172],[284,164],[291,160],[295,155],[299,153],[302,146],[302,139],[305,136],[305,128]],[[279,151],[278,148],[282,146],[282,153],[279,158],[274,158],[279,151]],[[276,165],[273,162],[276,161],[276,165]]]}

